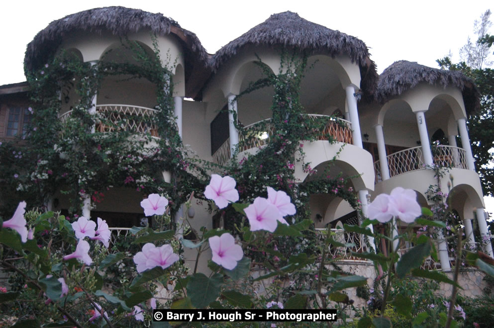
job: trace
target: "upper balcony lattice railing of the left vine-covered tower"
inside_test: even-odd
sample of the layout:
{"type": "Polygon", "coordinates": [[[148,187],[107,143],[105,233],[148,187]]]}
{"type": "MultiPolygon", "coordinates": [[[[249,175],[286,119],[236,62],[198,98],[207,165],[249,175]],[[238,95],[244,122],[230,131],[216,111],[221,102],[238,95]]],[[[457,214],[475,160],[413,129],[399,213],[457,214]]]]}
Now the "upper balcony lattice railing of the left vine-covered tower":
{"type": "MultiPolygon", "coordinates": [[[[135,133],[150,133],[158,137],[158,128],[152,124],[152,116],[156,109],[132,105],[97,105],[96,115],[99,117],[95,126],[97,132],[131,131],[135,133]]],[[[63,113],[58,118],[62,123],[72,115],[72,110],[63,113]]]]}

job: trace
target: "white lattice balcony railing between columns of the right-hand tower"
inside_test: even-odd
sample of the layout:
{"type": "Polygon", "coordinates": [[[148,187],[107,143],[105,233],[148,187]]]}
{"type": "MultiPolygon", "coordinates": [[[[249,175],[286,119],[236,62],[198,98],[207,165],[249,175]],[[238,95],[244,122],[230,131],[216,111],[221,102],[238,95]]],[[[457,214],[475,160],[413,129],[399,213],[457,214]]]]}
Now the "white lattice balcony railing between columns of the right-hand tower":
{"type": "MultiPolygon", "coordinates": [[[[465,150],[453,146],[437,146],[433,151],[434,163],[442,167],[467,169],[465,150]]],[[[390,177],[425,168],[422,147],[408,148],[387,156],[390,177]]],[[[382,181],[381,164],[374,162],[376,183],[382,181]]]]}

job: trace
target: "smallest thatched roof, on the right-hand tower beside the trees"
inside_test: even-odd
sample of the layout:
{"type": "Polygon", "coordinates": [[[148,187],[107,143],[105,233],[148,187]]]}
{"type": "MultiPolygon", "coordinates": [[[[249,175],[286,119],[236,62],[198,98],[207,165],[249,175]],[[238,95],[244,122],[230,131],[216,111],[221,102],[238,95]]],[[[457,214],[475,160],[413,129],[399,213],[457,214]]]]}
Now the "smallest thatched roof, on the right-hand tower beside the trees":
{"type": "Polygon", "coordinates": [[[379,76],[378,100],[384,103],[420,82],[442,87],[453,85],[459,88],[462,91],[467,112],[475,111],[480,106],[479,90],[474,82],[463,73],[435,69],[405,60],[393,63],[379,76]]]}

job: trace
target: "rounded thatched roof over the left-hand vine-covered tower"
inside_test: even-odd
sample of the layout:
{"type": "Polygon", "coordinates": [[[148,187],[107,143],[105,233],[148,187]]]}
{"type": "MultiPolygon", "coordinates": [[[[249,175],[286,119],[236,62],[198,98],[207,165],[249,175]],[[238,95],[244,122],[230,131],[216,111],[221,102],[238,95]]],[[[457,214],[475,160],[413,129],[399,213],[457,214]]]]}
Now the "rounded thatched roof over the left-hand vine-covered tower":
{"type": "Polygon", "coordinates": [[[186,80],[192,75],[188,70],[205,68],[208,55],[196,34],[181,28],[175,20],[161,13],[121,6],[84,10],[52,21],[27,45],[24,64],[28,70],[41,67],[56,52],[63,38],[74,31],[98,34],[109,31],[125,36],[147,28],[158,36],[172,34],[182,43],[186,50],[186,80]]]}

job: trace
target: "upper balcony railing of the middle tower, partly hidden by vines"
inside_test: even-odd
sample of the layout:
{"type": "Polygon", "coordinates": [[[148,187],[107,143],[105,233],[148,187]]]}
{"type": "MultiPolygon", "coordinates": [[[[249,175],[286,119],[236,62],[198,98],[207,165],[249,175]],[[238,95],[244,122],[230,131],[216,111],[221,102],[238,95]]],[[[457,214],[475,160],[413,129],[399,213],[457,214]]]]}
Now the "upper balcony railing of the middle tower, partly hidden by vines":
{"type": "MultiPolygon", "coordinates": [[[[327,115],[309,114],[308,117],[315,120],[326,120],[322,131],[315,131],[318,140],[328,140],[327,136],[332,136],[336,141],[353,144],[352,124],[344,119],[335,118],[327,115]]],[[[256,123],[245,126],[242,133],[239,134],[239,152],[245,152],[252,148],[261,148],[269,143],[269,137],[275,134],[275,129],[270,124],[271,119],[265,119],[256,123]],[[261,124],[265,129],[260,131],[261,124]]],[[[309,133],[309,132],[307,132],[309,133]]],[[[223,145],[213,154],[213,161],[216,164],[223,165],[230,160],[230,139],[228,138],[223,145]]]]}

